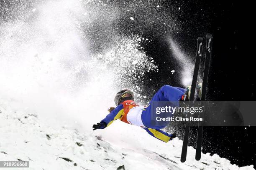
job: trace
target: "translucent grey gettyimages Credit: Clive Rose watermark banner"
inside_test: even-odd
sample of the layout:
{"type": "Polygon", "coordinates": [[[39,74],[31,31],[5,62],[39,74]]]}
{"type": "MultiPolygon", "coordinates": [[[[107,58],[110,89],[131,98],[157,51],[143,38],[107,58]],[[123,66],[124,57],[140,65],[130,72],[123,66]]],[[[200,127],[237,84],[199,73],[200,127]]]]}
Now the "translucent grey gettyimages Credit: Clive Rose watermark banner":
{"type": "Polygon", "coordinates": [[[256,101],[154,101],[145,109],[151,110],[151,125],[156,126],[187,121],[205,126],[255,126],[255,105],[256,101]]]}

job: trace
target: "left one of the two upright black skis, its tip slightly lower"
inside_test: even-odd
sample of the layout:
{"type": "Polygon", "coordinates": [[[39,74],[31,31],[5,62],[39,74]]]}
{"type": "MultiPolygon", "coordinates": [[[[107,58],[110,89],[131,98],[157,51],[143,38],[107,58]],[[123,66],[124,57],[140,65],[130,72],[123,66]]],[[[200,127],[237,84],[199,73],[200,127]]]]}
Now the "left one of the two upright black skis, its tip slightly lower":
{"type": "MultiPolygon", "coordinates": [[[[197,54],[196,54],[196,60],[195,60],[195,67],[194,67],[194,73],[193,73],[193,79],[192,79],[192,85],[191,85],[191,91],[190,91],[190,97],[189,97],[189,105],[188,107],[193,106],[193,101],[195,97],[195,88],[197,84],[197,75],[199,72],[199,66],[200,66],[200,60],[202,55],[202,48],[203,48],[203,39],[202,37],[197,38],[197,54]]],[[[190,114],[190,113],[188,113],[190,114]]],[[[187,117],[188,117],[187,114],[187,117]]],[[[190,129],[190,121],[186,122],[185,130],[184,130],[184,140],[182,145],[182,154],[180,161],[184,163],[187,158],[187,144],[188,144],[188,138],[189,138],[189,129],[190,129]]]]}

